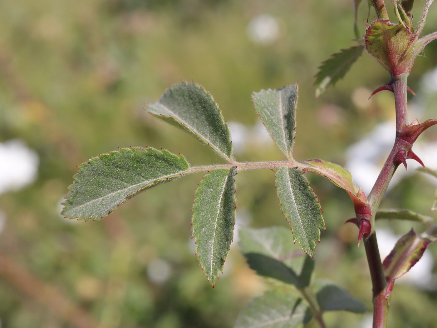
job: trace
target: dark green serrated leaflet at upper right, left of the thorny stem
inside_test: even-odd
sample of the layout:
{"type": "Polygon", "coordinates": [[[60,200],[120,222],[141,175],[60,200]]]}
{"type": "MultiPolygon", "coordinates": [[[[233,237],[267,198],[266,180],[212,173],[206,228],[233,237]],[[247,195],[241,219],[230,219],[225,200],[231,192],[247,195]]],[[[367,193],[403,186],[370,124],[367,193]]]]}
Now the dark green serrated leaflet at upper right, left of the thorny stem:
{"type": "Polygon", "coordinates": [[[316,97],[323,94],[326,88],[336,84],[350,70],[353,63],[361,56],[363,45],[356,45],[349,49],[341,49],[326,59],[316,74],[316,97]]]}

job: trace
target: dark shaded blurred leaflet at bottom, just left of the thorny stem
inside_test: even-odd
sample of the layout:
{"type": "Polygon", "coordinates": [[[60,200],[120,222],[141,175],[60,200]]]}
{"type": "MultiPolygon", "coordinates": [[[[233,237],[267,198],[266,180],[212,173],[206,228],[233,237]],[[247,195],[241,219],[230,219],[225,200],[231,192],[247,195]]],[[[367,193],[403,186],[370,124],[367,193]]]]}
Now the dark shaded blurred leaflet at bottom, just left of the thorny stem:
{"type": "Polygon", "coordinates": [[[318,280],[316,282],[316,298],[321,311],[344,310],[354,313],[364,313],[368,308],[350,293],[340,286],[328,281],[318,280]]]}

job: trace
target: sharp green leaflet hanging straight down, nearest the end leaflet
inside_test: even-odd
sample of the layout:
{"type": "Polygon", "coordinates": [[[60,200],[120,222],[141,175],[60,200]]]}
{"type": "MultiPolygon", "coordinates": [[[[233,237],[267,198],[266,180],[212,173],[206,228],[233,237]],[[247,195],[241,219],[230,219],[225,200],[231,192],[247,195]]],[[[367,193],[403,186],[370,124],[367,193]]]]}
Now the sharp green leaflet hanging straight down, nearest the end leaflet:
{"type": "Polygon", "coordinates": [[[193,237],[200,265],[214,286],[223,270],[235,223],[236,167],[211,171],[200,182],[193,206],[193,237]]]}

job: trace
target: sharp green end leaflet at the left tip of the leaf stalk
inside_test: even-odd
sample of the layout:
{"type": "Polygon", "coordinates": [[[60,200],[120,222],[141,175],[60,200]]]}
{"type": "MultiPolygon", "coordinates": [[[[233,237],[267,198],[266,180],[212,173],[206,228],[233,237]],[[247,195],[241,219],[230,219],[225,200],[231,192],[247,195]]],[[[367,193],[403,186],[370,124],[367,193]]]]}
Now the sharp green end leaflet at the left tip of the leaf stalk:
{"type": "Polygon", "coordinates": [[[152,147],[120,148],[79,165],[62,215],[101,219],[143,189],[187,173],[182,155],[152,147]]]}

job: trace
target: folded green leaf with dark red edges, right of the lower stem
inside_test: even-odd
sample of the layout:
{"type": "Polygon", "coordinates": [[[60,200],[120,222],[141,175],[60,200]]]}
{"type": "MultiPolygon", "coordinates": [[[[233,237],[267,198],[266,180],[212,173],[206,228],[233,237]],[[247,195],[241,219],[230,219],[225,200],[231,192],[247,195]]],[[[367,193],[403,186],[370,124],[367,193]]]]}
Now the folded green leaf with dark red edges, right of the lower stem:
{"type": "Polygon", "coordinates": [[[420,260],[428,245],[436,240],[436,227],[430,227],[420,236],[411,229],[397,241],[395,248],[382,262],[387,281],[398,279],[420,260]]]}

